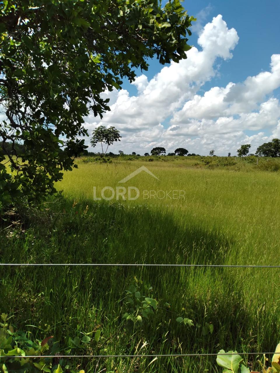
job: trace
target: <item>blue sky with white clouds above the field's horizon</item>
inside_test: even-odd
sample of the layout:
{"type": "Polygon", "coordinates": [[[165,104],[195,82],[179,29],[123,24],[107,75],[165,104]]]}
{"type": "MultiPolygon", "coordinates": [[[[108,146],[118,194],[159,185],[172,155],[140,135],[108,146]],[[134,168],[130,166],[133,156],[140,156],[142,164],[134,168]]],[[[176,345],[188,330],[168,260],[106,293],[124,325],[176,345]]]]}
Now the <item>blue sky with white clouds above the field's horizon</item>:
{"type": "MultiPolygon", "coordinates": [[[[111,111],[85,117],[89,135],[99,125],[121,133],[108,151],[143,155],[161,146],[190,153],[236,155],[280,138],[280,1],[184,1],[197,18],[187,59],[170,65],[150,60],[136,81],[105,92],[111,111]]],[[[92,148],[89,138],[85,143],[92,148]]],[[[100,147],[100,149],[99,149],[100,147]]]]}

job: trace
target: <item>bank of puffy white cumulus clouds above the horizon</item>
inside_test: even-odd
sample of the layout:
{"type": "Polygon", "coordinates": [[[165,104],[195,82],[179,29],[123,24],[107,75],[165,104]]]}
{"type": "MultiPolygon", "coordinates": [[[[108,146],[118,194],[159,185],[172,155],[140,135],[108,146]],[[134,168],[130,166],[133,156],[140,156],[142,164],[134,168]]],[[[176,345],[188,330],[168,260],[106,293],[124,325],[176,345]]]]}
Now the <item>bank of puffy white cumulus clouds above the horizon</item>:
{"type": "Polygon", "coordinates": [[[122,140],[111,147],[115,153],[144,154],[154,146],[171,152],[180,146],[191,153],[209,154],[214,148],[215,154],[227,155],[235,154],[240,144],[251,143],[254,151],[265,140],[280,137],[280,104],[273,97],[280,87],[280,54],[271,56],[270,71],[199,94],[218,74],[217,58],[230,60],[238,40],[237,31],[228,29],[221,15],[214,17],[199,31],[201,50],[193,47],[186,60],[171,62],[150,80],[138,76],[132,83],[137,95],[127,90],[105,92],[111,111],[102,121],[89,115],[85,127],[90,134],[99,125],[118,128],[122,140]],[[249,136],[246,130],[258,132],[249,136]]]}

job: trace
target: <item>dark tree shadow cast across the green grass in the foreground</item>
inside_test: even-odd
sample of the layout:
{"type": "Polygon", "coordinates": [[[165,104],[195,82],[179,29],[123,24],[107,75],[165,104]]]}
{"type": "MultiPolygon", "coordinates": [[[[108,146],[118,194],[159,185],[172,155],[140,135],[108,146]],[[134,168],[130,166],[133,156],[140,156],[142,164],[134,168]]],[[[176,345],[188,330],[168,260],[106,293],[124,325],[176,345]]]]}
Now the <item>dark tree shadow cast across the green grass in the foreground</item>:
{"type": "MultiPolygon", "coordinates": [[[[203,229],[188,216],[183,221],[180,213],[174,215],[167,209],[86,206],[85,201],[73,204],[61,198],[44,211],[43,223],[36,215],[36,222],[29,222],[23,231],[14,227],[13,231],[3,230],[0,260],[223,264],[234,246],[234,239],[225,233],[203,229]]],[[[22,328],[40,325],[36,332],[42,338],[46,336],[45,324],[57,339],[100,327],[103,338],[120,345],[116,352],[121,353],[134,353],[140,339],[149,341],[149,351],[161,353],[274,347],[277,336],[268,329],[277,325],[278,315],[262,310],[259,319],[246,309],[243,291],[236,288],[240,286],[237,278],[223,268],[0,267],[0,298],[5,300],[1,312],[14,312],[22,328]],[[121,317],[129,308],[125,289],[139,284],[136,279],[153,287],[152,294],[145,294],[141,285],[142,294],[155,297],[161,308],[130,336],[124,332],[121,317]],[[165,302],[171,304],[170,310],[165,310],[165,302]],[[179,325],[178,316],[194,320],[195,326],[179,325]],[[254,330],[257,322],[263,333],[261,342],[254,330]],[[204,336],[206,323],[214,325],[214,332],[204,336]]]]}

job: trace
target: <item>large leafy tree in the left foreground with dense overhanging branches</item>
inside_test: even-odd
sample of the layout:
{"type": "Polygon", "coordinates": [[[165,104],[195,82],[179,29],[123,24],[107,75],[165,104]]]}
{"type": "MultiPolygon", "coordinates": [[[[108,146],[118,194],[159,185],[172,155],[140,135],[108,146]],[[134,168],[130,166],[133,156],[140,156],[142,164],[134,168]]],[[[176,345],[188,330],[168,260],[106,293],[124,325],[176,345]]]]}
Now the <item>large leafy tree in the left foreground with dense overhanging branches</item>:
{"type": "Polygon", "coordinates": [[[41,201],[85,148],[84,117],[109,110],[105,90],[186,59],[189,17],[179,0],[0,1],[0,211],[41,201]],[[15,154],[15,142],[26,151],[15,154]],[[1,163],[12,142],[12,173],[1,163]],[[26,196],[26,197],[24,197],[26,196]]]}

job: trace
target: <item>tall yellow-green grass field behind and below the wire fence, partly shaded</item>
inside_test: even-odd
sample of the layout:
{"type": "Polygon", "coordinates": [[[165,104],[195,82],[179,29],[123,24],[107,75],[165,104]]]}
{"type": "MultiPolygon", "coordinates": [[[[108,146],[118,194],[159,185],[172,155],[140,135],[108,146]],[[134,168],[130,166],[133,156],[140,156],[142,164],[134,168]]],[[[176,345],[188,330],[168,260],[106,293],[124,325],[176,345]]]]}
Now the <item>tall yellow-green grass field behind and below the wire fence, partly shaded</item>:
{"type": "MultiPolygon", "coordinates": [[[[214,169],[195,159],[77,162],[78,169],[56,185],[62,194],[43,212],[32,210],[29,223],[2,231],[1,261],[280,264],[279,172],[242,160],[214,169]],[[141,172],[119,183],[141,166],[158,179],[141,172]],[[99,198],[106,186],[114,192],[133,186],[140,195],[94,200],[94,187],[99,198]],[[159,198],[146,198],[150,191],[161,191],[159,198]],[[173,191],[179,191],[175,197],[184,191],[184,198],[169,198],[173,191]]],[[[1,268],[0,276],[0,311],[15,314],[15,325],[40,338],[54,335],[62,345],[68,336],[100,329],[99,342],[88,344],[90,354],[263,352],[274,351],[280,340],[279,269],[11,267],[1,268]],[[158,307],[128,332],[122,315],[131,307],[125,293],[130,285],[155,298],[158,307]],[[176,322],[180,316],[194,326],[176,322]],[[212,333],[205,333],[206,324],[213,325],[212,333]]],[[[248,360],[253,365],[257,357],[248,360]]],[[[96,358],[81,364],[86,372],[219,371],[215,357],[96,358]]]]}

